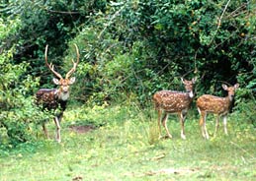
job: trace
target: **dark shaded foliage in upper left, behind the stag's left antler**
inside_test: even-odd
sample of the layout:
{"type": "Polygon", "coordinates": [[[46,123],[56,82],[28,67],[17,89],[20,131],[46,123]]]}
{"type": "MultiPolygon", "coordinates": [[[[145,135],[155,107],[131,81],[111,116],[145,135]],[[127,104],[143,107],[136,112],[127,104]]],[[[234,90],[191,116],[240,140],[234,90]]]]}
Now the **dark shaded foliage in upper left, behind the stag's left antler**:
{"type": "Polygon", "coordinates": [[[31,65],[28,73],[41,77],[41,85],[48,87],[51,78],[43,66],[44,47],[49,45],[48,56],[56,69],[63,74],[60,67],[67,42],[77,33],[79,26],[87,21],[88,14],[93,14],[103,7],[105,1],[23,1],[2,2],[3,19],[19,19],[21,27],[14,36],[9,36],[3,48],[15,44],[17,63],[27,61],[31,65]],[[44,74],[47,72],[47,74],[44,74]],[[42,76],[43,75],[43,76],[42,76]]]}

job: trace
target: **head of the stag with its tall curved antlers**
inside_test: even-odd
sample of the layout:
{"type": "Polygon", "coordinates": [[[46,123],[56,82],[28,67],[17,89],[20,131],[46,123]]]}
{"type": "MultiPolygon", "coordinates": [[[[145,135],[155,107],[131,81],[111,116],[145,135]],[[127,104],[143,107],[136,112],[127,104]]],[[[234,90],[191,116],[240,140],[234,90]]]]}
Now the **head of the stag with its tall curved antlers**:
{"type": "MultiPolygon", "coordinates": [[[[59,86],[58,89],[58,94],[62,97],[62,94],[66,94],[68,97],[68,93],[69,93],[69,86],[74,84],[75,82],[75,77],[71,77],[71,75],[75,72],[77,64],[79,62],[79,50],[76,44],[74,44],[75,49],[76,49],[76,62],[74,62],[74,60],[72,59],[73,62],[73,67],[68,71],[68,73],[66,74],[65,78],[63,78],[59,73],[57,73],[54,70],[54,65],[52,65],[51,63],[48,64],[47,61],[47,49],[48,49],[48,45],[46,45],[45,47],[45,64],[48,67],[48,69],[55,75],[56,78],[53,78],[53,83],[57,86],[59,86]],[[70,78],[71,77],[71,78],[70,78]]],[[[66,99],[66,98],[64,98],[66,99]]]]}

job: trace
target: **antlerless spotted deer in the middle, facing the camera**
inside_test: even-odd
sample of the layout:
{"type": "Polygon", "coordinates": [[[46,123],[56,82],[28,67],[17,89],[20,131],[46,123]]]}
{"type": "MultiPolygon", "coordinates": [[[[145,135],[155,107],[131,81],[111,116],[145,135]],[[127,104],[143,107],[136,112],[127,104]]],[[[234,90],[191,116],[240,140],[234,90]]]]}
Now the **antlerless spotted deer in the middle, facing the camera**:
{"type": "Polygon", "coordinates": [[[185,118],[190,107],[190,104],[194,97],[194,85],[196,78],[191,81],[187,81],[181,78],[182,83],[185,86],[186,92],[184,91],[157,91],[153,95],[153,101],[155,109],[158,112],[158,128],[159,138],[161,138],[161,123],[167,132],[167,136],[172,138],[168,128],[167,120],[169,113],[176,113],[179,115],[181,123],[181,138],[186,139],[184,131],[185,118]],[[163,117],[162,117],[163,114],[163,117]]]}

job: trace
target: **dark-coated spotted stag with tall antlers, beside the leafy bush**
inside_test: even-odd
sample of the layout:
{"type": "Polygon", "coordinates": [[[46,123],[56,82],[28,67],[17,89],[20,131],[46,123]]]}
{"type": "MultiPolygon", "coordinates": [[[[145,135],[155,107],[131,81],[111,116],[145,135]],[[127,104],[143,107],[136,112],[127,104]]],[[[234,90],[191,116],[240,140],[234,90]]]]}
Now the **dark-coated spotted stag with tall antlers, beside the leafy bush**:
{"type": "MultiPolygon", "coordinates": [[[[74,44],[76,49],[76,56],[77,60],[73,62],[73,67],[69,70],[69,72],[66,74],[65,78],[58,74],[54,70],[54,66],[50,63],[48,64],[47,61],[47,48],[48,45],[45,47],[45,64],[47,68],[53,73],[53,75],[56,78],[53,78],[53,83],[57,86],[59,86],[58,89],[41,89],[36,93],[36,102],[38,105],[42,105],[43,109],[47,110],[55,110],[57,108],[60,109],[58,113],[54,115],[54,123],[56,125],[56,141],[58,143],[61,142],[60,139],[60,121],[63,116],[63,112],[66,108],[67,99],[69,97],[69,86],[72,85],[75,82],[75,77],[71,77],[71,75],[75,72],[77,64],[79,62],[79,50],[76,44],[74,44]],[[70,78],[71,77],[71,78],[70,78]]],[[[45,136],[48,138],[48,133],[45,127],[45,122],[43,122],[43,132],[45,136]]]]}

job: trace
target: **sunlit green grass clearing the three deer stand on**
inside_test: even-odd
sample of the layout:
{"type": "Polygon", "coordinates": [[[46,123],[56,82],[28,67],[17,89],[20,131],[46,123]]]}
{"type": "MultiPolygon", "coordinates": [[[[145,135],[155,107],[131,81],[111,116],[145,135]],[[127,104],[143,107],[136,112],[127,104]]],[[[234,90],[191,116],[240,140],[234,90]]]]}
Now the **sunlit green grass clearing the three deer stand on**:
{"type": "MultiPolygon", "coordinates": [[[[65,112],[62,143],[28,143],[2,151],[0,180],[255,180],[256,130],[228,117],[229,135],[220,125],[213,138],[213,118],[208,119],[211,140],[202,138],[198,120],[188,116],[187,140],[180,138],[177,117],[169,118],[173,139],[157,140],[156,116],[152,120],[138,108],[94,107],[65,112]],[[68,121],[67,121],[68,120],[68,121]],[[96,125],[86,134],[68,129],[70,124],[96,125]]],[[[53,124],[48,124],[53,134],[53,124]]],[[[164,133],[164,132],[163,132],[164,133]]]]}

